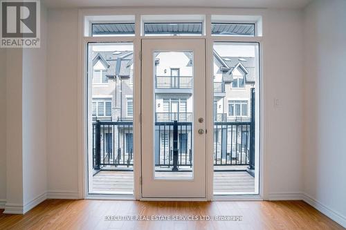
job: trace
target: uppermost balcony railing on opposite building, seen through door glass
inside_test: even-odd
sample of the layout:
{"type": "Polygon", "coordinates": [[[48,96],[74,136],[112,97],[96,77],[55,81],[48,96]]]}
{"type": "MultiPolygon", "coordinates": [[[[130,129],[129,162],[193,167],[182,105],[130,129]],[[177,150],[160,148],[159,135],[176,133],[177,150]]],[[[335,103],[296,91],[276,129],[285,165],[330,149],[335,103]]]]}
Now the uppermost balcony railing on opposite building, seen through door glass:
{"type": "Polygon", "coordinates": [[[192,76],[156,76],[156,88],[192,88],[192,76]]]}

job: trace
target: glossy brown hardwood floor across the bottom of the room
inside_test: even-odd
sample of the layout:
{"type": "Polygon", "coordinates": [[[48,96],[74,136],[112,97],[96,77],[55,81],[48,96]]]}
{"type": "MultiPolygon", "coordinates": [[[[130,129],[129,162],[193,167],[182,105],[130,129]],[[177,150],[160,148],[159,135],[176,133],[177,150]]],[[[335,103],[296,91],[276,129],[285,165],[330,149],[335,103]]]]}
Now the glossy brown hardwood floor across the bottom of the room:
{"type": "Polygon", "coordinates": [[[0,211],[0,229],[343,229],[302,201],[140,202],[46,200],[25,215],[0,211]],[[109,221],[122,215],[235,215],[242,221],[109,221]]]}

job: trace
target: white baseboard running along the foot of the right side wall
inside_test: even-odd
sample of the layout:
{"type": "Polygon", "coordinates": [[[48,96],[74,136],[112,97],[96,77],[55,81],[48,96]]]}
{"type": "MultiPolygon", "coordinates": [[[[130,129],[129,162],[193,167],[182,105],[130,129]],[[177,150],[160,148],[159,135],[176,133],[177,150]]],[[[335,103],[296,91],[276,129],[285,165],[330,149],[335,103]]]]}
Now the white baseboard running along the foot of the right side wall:
{"type": "Polygon", "coordinates": [[[318,200],[311,198],[311,196],[307,195],[306,193],[302,194],[302,200],[310,204],[312,207],[314,207],[321,213],[327,215],[327,217],[331,218],[331,220],[334,220],[335,222],[346,228],[346,217],[344,215],[330,209],[318,200]]]}

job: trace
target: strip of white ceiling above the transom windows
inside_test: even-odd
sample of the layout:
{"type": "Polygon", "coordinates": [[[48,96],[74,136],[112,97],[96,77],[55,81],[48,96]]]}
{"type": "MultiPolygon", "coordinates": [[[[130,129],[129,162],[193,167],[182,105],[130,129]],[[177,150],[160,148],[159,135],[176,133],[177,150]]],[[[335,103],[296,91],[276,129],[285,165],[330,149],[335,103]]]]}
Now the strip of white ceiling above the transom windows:
{"type": "Polygon", "coordinates": [[[312,0],[43,0],[48,8],[82,7],[231,7],[231,8],[304,8],[312,0]]]}

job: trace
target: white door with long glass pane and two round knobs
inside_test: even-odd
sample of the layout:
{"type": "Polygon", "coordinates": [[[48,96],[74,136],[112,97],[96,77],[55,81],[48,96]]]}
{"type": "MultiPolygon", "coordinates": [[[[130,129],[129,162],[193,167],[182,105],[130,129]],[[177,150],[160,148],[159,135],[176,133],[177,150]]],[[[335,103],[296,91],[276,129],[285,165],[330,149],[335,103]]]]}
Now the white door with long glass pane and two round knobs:
{"type": "Polygon", "coordinates": [[[205,40],[143,39],[142,57],[142,197],[206,198],[205,40]],[[163,108],[180,97],[184,119],[163,108]]]}

